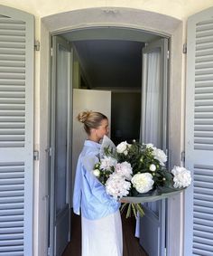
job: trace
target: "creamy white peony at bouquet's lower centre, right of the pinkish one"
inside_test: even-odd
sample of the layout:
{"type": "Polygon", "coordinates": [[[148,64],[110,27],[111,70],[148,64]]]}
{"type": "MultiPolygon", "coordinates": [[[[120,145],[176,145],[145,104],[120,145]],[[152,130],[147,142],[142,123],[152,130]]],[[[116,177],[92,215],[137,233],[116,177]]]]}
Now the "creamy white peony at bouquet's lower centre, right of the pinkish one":
{"type": "Polygon", "coordinates": [[[149,173],[136,174],[131,180],[135,189],[139,193],[146,193],[153,188],[153,175],[149,173]]]}

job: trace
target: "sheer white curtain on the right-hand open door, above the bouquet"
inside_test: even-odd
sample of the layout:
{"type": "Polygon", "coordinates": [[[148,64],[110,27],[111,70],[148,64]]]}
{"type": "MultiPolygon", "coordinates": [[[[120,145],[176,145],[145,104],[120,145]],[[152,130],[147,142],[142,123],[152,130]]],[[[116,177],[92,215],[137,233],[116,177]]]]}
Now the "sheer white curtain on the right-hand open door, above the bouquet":
{"type": "Polygon", "coordinates": [[[162,148],[162,82],[161,52],[146,53],[145,143],[162,148]]]}

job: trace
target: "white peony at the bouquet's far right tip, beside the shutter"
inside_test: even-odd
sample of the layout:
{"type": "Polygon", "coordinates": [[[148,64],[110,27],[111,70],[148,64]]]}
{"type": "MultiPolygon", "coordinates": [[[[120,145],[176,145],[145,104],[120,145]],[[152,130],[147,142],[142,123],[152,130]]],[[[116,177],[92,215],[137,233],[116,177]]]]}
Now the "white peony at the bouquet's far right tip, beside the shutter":
{"type": "Polygon", "coordinates": [[[174,166],[171,170],[175,188],[186,187],[191,183],[190,171],[184,167],[174,166]]]}

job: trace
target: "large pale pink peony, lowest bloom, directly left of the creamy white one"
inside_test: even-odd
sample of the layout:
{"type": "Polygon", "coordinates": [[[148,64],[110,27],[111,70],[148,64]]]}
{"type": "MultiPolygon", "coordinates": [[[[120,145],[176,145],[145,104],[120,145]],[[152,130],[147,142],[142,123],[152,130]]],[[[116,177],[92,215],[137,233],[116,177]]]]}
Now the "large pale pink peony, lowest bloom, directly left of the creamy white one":
{"type": "Polygon", "coordinates": [[[106,193],[112,195],[115,199],[129,194],[131,183],[125,180],[125,177],[113,173],[106,181],[106,193]]]}

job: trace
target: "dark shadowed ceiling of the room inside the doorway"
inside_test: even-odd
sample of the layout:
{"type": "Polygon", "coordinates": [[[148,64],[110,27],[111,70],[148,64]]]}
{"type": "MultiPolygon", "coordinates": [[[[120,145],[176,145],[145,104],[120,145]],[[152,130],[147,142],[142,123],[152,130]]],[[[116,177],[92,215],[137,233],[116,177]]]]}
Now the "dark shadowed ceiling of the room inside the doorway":
{"type": "Polygon", "coordinates": [[[144,43],[91,40],[74,45],[89,88],[141,86],[144,43]]]}

